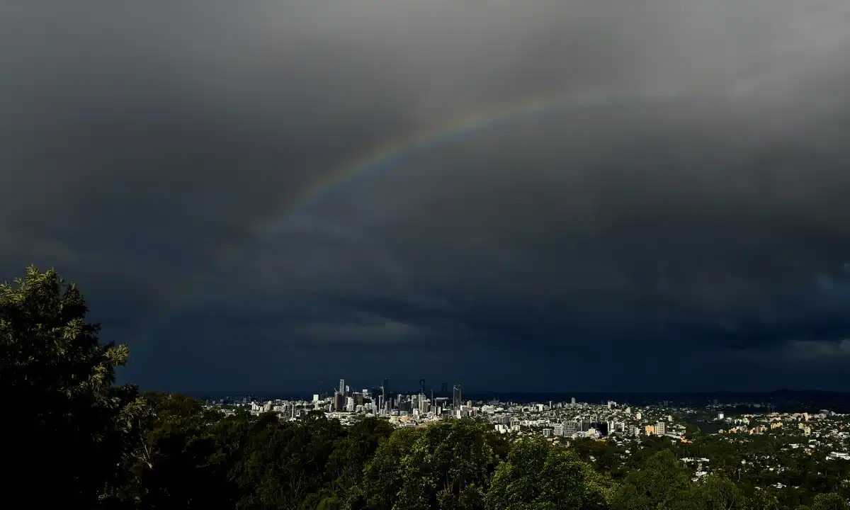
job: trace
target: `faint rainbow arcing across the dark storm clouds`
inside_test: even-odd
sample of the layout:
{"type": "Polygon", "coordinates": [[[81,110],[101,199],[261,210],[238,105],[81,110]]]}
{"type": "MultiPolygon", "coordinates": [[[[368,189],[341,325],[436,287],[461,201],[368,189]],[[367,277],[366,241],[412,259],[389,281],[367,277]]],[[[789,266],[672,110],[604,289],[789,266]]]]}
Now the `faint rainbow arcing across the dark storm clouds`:
{"type": "MultiPolygon", "coordinates": [[[[394,163],[405,157],[433,149],[454,139],[462,139],[471,133],[503,122],[516,121],[553,110],[615,105],[623,100],[669,99],[671,97],[671,94],[614,94],[601,91],[581,94],[558,92],[522,99],[508,105],[502,104],[477,111],[467,111],[451,118],[448,122],[439,122],[422,131],[408,133],[406,136],[394,139],[384,139],[369,150],[358,152],[345,159],[295,195],[287,195],[286,200],[276,207],[278,212],[268,221],[263,222],[266,228],[260,230],[274,230],[276,225],[282,224],[292,213],[306,209],[333,190],[346,186],[354,178],[368,175],[381,168],[394,167],[394,163]]],[[[218,250],[213,250],[207,263],[201,263],[197,271],[179,284],[177,292],[174,292],[172,297],[167,299],[161,307],[160,313],[154,314],[154,320],[149,322],[150,328],[142,337],[148,337],[158,328],[164,326],[178,306],[184,303],[186,298],[190,297],[190,293],[200,285],[201,279],[209,271],[235,254],[238,248],[239,246],[228,244],[220,246],[218,250]]]]}

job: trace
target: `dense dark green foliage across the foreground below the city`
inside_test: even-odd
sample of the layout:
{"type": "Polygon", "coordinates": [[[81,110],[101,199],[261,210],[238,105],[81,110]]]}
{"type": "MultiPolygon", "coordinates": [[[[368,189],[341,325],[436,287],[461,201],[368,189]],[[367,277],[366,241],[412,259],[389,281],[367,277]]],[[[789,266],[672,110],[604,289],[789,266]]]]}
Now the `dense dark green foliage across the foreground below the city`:
{"type": "MultiPolygon", "coordinates": [[[[498,435],[469,420],[397,429],[370,417],[343,428],[320,412],[296,421],[246,411],[225,417],[178,394],[139,394],[115,384],[127,349],[100,343],[99,326],[85,321],[87,311],[77,287],[53,270],[29,268],[24,279],[0,286],[0,388],[14,410],[3,420],[10,467],[4,480],[12,492],[39,488],[29,495],[39,507],[732,510],[790,504],[759,485],[771,480],[742,479],[735,461],[694,479],[680,454],[728,447],[711,439],[682,446],[649,439],[624,460],[613,442],[578,440],[566,447],[536,435],[498,435]]],[[[769,442],[761,447],[778,451],[769,442]]],[[[749,454],[759,458],[757,450],[749,454]]],[[[808,480],[807,464],[791,469],[801,483],[808,480]]],[[[850,510],[839,494],[844,474],[817,482],[824,494],[791,502],[850,510]]]]}

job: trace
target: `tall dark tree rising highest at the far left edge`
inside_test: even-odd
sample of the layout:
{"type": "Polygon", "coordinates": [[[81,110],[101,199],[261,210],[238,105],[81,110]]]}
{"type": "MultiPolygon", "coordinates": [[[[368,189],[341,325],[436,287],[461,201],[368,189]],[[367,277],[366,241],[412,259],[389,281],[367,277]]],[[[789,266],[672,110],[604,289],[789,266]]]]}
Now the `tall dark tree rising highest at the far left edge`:
{"type": "Polygon", "coordinates": [[[115,385],[127,348],[100,343],[100,326],[73,283],[35,267],[0,285],[0,389],[14,419],[3,421],[10,487],[49,487],[41,504],[94,507],[120,481],[126,428],[136,397],[115,385]],[[126,424],[127,422],[124,422],[126,424]]]}

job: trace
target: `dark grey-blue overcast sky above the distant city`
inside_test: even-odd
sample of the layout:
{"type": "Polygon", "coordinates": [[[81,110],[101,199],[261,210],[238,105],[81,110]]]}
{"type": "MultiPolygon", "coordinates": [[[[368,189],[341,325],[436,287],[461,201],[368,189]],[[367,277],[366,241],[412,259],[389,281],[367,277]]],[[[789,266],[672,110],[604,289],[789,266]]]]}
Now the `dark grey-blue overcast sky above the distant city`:
{"type": "Polygon", "coordinates": [[[143,388],[850,390],[848,55],[846,0],[3,2],[0,280],[143,388]],[[297,200],[552,94],[614,100],[297,200]]]}

